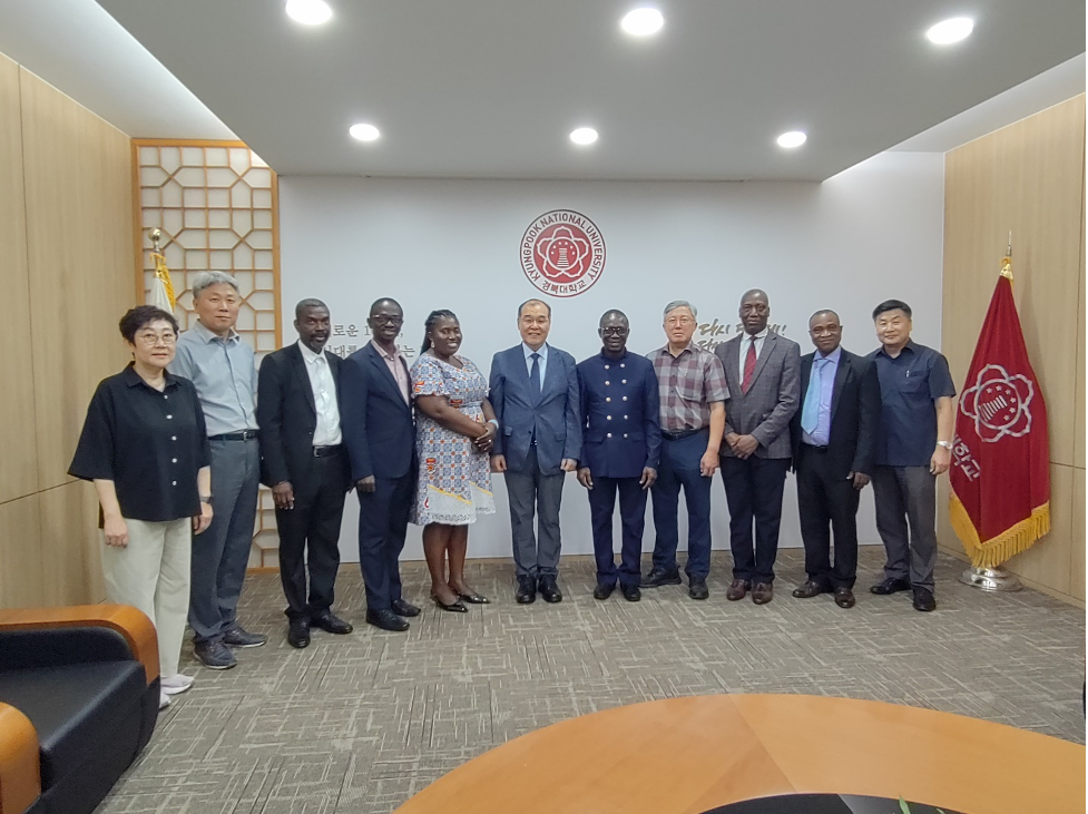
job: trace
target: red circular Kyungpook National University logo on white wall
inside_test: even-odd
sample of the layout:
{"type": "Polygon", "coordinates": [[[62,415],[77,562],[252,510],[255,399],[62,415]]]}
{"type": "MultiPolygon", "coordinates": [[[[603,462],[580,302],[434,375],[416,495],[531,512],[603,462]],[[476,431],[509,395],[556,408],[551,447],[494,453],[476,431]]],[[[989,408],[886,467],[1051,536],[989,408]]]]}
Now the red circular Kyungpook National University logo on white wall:
{"type": "Polygon", "coordinates": [[[546,212],[521,236],[521,271],[545,294],[577,296],[605,271],[605,238],[581,213],[546,212]]]}

